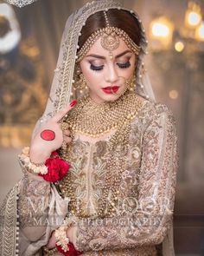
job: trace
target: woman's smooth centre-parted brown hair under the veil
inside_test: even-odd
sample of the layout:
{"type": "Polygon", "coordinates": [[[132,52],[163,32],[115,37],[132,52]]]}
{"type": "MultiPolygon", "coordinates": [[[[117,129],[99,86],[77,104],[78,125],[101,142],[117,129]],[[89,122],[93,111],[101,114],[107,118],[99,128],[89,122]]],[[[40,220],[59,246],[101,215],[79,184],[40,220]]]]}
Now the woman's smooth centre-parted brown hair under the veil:
{"type": "MultiPolygon", "coordinates": [[[[141,43],[141,27],[137,18],[132,16],[128,10],[109,9],[106,11],[110,26],[124,30],[131,39],[137,44],[141,43]]],[[[86,42],[89,36],[96,30],[106,27],[105,15],[103,11],[98,11],[86,20],[86,25],[81,30],[79,37],[80,48],[86,42]]]]}

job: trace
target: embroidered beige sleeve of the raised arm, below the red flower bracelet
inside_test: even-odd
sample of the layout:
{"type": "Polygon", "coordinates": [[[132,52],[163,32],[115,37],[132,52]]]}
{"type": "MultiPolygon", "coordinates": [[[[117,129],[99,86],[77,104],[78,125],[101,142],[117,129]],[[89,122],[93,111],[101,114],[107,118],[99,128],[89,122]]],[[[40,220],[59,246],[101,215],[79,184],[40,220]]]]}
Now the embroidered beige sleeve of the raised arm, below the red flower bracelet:
{"type": "Polygon", "coordinates": [[[19,184],[18,214],[22,233],[30,241],[39,240],[46,230],[50,185],[29,172],[20,158],[23,177],[19,184]]]}

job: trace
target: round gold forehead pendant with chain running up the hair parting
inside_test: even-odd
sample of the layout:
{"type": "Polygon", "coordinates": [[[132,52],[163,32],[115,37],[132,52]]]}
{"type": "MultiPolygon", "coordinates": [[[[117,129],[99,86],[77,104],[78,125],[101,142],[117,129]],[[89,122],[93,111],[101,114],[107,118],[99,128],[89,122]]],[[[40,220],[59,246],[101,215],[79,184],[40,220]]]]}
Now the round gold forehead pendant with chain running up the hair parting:
{"type": "Polygon", "coordinates": [[[119,37],[117,36],[117,33],[115,31],[115,28],[110,27],[110,23],[108,21],[108,17],[106,14],[106,11],[104,10],[105,15],[105,33],[101,37],[100,44],[104,49],[107,49],[109,51],[110,59],[112,60],[112,50],[117,49],[119,46],[119,37]]]}

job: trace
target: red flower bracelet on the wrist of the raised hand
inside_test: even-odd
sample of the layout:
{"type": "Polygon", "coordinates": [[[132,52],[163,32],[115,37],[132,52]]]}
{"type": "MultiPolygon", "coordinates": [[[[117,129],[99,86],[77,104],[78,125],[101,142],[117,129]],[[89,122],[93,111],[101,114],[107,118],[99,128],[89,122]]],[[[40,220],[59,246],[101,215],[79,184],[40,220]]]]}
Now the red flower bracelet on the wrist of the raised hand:
{"type": "Polygon", "coordinates": [[[70,164],[60,158],[58,152],[52,152],[50,158],[45,162],[45,166],[48,167],[47,174],[38,174],[45,181],[56,182],[61,181],[68,172],[70,164]]]}

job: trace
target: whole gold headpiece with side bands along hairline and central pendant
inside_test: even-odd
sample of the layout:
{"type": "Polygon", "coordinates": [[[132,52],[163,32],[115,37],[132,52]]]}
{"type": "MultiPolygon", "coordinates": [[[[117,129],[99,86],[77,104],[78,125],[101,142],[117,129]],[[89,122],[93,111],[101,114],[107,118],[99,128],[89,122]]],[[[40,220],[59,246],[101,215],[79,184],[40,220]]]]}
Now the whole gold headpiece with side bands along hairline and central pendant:
{"type": "Polygon", "coordinates": [[[118,48],[120,38],[124,40],[124,43],[127,44],[127,46],[133,51],[134,54],[139,54],[141,47],[134,43],[134,41],[131,40],[130,36],[128,36],[124,30],[121,30],[117,27],[111,27],[106,14],[107,10],[104,10],[103,12],[105,15],[105,28],[93,32],[92,35],[88,37],[86,43],[84,43],[78,52],[77,62],[80,62],[83,57],[86,56],[86,53],[89,51],[89,49],[91,49],[92,44],[95,43],[99,37],[101,37],[101,46],[104,49],[109,50],[111,59],[113,57],[112,50],[118,48]]]}

